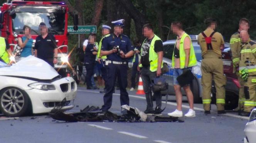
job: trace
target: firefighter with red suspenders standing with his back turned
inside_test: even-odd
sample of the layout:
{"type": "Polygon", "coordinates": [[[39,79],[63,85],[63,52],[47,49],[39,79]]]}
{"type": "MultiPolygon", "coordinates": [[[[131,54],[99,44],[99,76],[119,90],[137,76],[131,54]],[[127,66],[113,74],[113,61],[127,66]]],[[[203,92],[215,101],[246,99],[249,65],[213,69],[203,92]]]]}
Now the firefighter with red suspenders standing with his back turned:
{"type": "Polygon", "coordinates": [[[202,49],[202,86],[204,113],[209,114],[211,109],[211,88],[212,78],[216,87],[217,113],[226,113],[225,105],[225,85],[226,77],[223,75],[223,64],[221,50],[224,48],[224,40],[221,33],[215,32],[217,22],[213,18],[205,20],[207,29],[198,35],[198,43],[202,49]]]}

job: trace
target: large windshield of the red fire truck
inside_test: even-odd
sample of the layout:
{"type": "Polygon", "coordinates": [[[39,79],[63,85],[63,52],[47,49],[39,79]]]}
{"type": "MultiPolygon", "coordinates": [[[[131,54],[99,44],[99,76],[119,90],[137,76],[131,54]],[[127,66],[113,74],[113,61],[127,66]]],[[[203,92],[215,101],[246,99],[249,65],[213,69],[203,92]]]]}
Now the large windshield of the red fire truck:
{"type": "MultiPolygon", "coordinates": [[[[65,11],[60,7],[31,7],[23,6],[15,8],[16,16],[13,18],[13,31],[22,33],[23,26],[28,25],[37,33],[39,24],[44,22],[49,31],[61,34],[65,27],[65,11]]],[[[35,34],[35,33],[32,33],[35,34]]]]}

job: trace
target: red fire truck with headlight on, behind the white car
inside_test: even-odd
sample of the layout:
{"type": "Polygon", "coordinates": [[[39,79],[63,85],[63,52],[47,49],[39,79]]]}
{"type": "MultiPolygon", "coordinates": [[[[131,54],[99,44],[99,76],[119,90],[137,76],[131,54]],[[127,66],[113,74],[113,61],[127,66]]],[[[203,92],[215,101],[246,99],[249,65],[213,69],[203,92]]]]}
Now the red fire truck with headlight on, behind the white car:
{"type": "Polygon", "coordinates": [[[69,51],[67,46],[68,15],[73,17],[74,30],[77,30],[78,16],[76,13],[69,12],[64,2],[7,0],[7,3],[3,3],[0,8],[1,36],[7,38],[12,49],[17,44],[18,37],[24,35],[24,25],[31,27],[35,43],[35,38],[40,34],[39,23],[44,22],[48,27],[48,33],[55,36],[59,50],[58,63],[54,65],[54,68],[66,71],[69,51]]]}

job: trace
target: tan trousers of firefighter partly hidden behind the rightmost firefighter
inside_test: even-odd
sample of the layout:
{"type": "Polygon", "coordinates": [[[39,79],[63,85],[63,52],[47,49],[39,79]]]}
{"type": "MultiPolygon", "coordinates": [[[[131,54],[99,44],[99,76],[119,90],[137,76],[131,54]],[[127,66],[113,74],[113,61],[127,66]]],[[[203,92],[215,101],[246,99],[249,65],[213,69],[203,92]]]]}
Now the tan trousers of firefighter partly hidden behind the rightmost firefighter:
{"type": "Polygon", "coordinates": [[[244,110],[244,101],[245,101],[245,97],[244,97],[244,81],[243,81],[242,77],[239,75],[238,71],[236,71],[236,75],[237,75],[237,79],[238,79],[239,84],[240,84],[238,109],[239,110],[244,110]]]}

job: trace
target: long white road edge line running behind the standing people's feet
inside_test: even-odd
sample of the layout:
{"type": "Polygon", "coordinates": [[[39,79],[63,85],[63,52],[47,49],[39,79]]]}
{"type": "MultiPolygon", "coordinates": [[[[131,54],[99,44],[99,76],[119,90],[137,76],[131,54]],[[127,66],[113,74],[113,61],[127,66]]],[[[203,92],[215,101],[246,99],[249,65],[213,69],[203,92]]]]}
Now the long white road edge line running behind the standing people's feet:
{"type": "MultiPolygon", "coordinates": [[[[99,92],[96,92],[96,91],[89,91],[89,90],[77,90],[77,91],[86,91],[86,92],[99,93],[99,92]]],[[[113,95],[120,95],[120,94],[113,94],[113,95]]],[[[135,97],[135,98],[139,98],[139,99],[146,99],[146,97],[141,97],[141,96],[137,96],[137,95],[129,95],[129,97],[135,97]]],[[[165,101],[162,101],[162,103],[165,104],[165,101]]],[[[177,104],[174,103],[174,102],[169,102],[168,101],[167,104],[177,106],[177,104]]],[[[188,105],[182,105],[182,107],[189,109],[188,105]]],[[[203,108],[197,108],[197,107],[194,107],[194,110],[204,111],[203,108]]],[[[213,113],[217,113],[217,112],[213,112],[213,113]]],[[[243,119],[249,120],[249,117],[243,117],[243,116],[234,115],[234,114],[231,114],[231,113],[226,113],[226,114],[222,114],[222,115],[226,115],[226,116],[229,116],[229,117],[243,118],[243,119]]]]}

